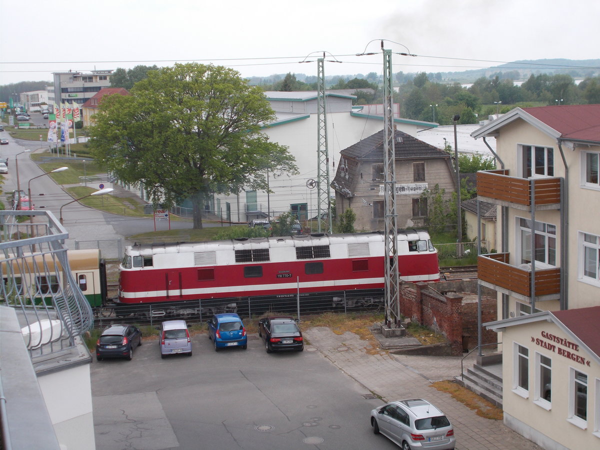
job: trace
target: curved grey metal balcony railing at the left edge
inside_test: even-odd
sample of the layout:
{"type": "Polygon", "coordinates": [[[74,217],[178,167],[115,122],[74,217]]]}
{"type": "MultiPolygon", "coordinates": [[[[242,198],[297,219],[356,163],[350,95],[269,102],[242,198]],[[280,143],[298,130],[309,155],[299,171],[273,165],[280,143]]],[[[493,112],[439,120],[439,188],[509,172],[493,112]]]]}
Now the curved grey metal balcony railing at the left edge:
{"type": "Polygon", "coordinates": [[[0,230],[0,304],[17,310],[31,356],[73,347],[93,316],[71,274],[67,231],[50,211],[0,211],[0,230]],[[34,222],[20,222],[27,216],[34,222]]]}

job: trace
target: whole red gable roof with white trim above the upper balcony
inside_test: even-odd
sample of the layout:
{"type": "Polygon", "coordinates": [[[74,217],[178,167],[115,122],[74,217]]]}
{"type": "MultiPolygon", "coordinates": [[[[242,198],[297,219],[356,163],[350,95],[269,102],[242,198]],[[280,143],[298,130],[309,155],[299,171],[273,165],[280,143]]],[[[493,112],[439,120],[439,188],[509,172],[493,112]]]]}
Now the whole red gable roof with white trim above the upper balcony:
{"type": "Polygon", "coordinates": [[[554,139],[600,143],[600,104],[515,108],[473,131],[475,139],[496,136],[500,128],[523,119],[554,139]]]}

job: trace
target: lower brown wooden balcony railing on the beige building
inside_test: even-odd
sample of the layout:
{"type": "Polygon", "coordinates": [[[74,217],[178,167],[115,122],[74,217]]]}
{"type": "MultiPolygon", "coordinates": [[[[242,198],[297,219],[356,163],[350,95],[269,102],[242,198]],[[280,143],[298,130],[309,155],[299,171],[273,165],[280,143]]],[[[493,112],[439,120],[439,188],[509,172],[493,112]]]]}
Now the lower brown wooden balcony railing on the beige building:
{"type": "MultiPolygon", "coordinates": [[[[482,254],[478,257],[479,280],[500,288],[501,292],[531,297],[531,270],[510,265],[509,253],[482,254]]],[[[538,263],[539,264],[539,263],[538,263]]],[[[523,265],[527,266],[527,265],[523,265]]],[[[535,297],[538,300],[556,299],[560,293],[560,268],[536,269],[535,297]]]]}

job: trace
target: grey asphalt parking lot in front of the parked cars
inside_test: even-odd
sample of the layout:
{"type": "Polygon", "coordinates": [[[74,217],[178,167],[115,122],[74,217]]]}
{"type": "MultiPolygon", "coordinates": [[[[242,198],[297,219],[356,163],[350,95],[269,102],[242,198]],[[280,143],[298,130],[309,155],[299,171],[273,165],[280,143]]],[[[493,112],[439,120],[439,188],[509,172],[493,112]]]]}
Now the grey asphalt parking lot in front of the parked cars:
{"type": "Polygon", "coordinates": [[[133,361],[91,365],[98,450],[397,448],[373,434],[370,410],[383,404],[316,348],[215,352],[206,334],[193,356],[160,358],[146,338],[133,361]]]}

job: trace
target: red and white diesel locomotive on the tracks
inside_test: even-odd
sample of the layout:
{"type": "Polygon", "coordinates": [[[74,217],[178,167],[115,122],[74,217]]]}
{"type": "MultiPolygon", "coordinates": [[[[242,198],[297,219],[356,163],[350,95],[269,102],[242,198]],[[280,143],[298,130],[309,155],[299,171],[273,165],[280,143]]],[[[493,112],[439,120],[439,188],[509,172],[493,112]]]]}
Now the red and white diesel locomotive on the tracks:
{"type": "MultiPolygon", "coordinates": [[[[119,266],[118,303],[227,303],[383,289],[384,247],[379,232],[134,244],[119,266]]],[[[439,280],[427,232],[399,231],[397,247],[401,280],[439,280]]]]}

